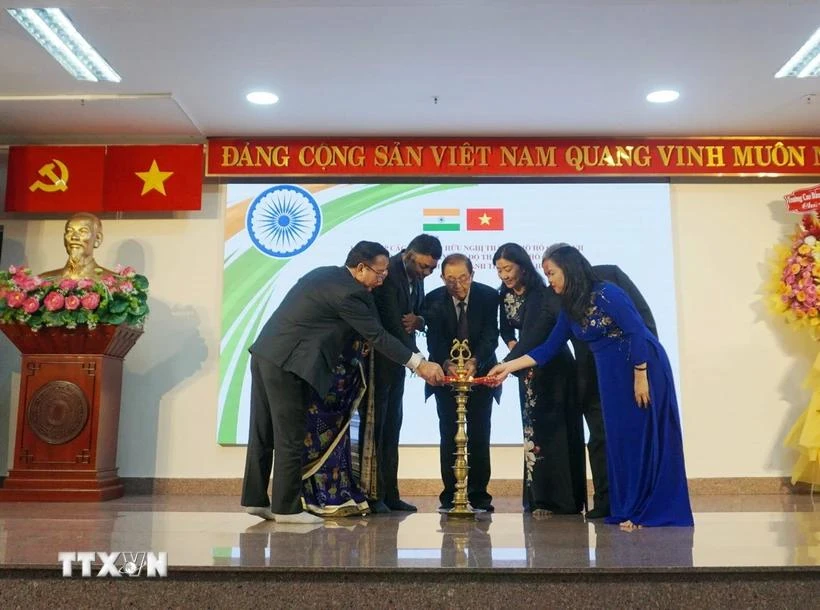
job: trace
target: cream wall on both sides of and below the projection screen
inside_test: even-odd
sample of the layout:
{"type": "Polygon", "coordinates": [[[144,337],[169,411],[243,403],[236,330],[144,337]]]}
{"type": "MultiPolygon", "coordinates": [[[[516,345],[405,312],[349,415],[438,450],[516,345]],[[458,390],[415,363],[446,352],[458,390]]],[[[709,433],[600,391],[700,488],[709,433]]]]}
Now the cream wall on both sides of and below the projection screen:
{"type": "MultiPolygon", "coordinates": [[[[806,186],[802,183],[800,186],[806,186]]],[[[772,246],[796,216],[784,183],[674,184],[681,394],[690,477],[789,474],[781,447],[805,407],[816,352],[764,312],[761,287],[772,246]]],[[[0,264],[35,271],[65,258],[64,219],[0,215],[0,264]]],[[[207,185],[203,209],[164,218],[103,217],[97,259],[129,264],[151,281],[145,335],[126,360],[119,466],[128,477],[241,477],[245,450],[216,444],[222,269],[222,192],[207,185]]],[[[651,253],[647,253],[651,256],[651,253]]],[[[604,263],[607,261],[593,261],[604,263]]],[[[0,438],[13,448],[19,357],[0,339],[0,438]]],[[[405,408],[412,409],[410,401],[405,408]]],[[[511,417],[518,418],[517,413],[511,417]]],[[[436,425],[431,422],[431,425],[436,425]]],[[[8,461],[0,452],[0,470],[8,461]]],[[[521,450],[496,447],[493,476],[521,476],[521,450]]],[[[402,449],[402,478],[437,478],[438,450],[402,449]]]]}

